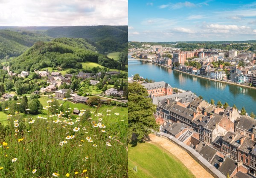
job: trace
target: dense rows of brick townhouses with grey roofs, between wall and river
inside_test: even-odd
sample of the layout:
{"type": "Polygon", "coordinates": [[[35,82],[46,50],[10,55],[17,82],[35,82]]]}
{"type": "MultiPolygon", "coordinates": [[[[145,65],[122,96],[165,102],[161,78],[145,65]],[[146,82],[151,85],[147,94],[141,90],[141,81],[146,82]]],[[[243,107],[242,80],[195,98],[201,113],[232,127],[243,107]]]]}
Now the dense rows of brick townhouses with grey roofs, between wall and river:
{"type": "Polygon", "coordinates": [[[194,148],[225,176],[239,171],[256,175],[255,119],[230,106],[212,105],[191,91],[151,97],[160,131],[194,148]]]}

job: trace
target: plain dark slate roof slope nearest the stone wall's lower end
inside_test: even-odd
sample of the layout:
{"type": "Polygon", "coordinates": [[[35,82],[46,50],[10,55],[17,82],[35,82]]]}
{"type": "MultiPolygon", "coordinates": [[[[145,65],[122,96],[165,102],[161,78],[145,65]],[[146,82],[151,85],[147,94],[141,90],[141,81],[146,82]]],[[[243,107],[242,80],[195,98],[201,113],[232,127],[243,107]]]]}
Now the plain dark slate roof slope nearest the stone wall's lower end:
{"type": "Polygon", "coordinates": [[[237,162],[234,161],[233,159],[229,158],[229,157],[226,157],[224,162],[221,164],[221,167],[219,167],[219,171],[227,176],[227,173],[229,175],[232,175],[232,173],[234,172],[234,170],[236,169],[237,167],[237,162]]]}

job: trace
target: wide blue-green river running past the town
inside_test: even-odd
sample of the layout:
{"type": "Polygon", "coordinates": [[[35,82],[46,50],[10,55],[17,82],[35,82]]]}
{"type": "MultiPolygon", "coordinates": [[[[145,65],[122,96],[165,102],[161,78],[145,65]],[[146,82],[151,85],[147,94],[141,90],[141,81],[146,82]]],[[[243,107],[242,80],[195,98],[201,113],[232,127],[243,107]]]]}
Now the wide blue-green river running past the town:
{"type": "MultiPolygon", "coordinates": [[[[128,55],[128,58],[130,59],[131,55],[128,55]]],[[[215,104],[218,100],[222,104],[227,102],[230,106],[236,104],[239,110],[244,106],[249,115],[251,112],[256,114],[255,89],[198,78],[145,61],[128,60],[128,76],[134,74],[155,81],[165,81],[174,88],[190,90],[198,96],[201,95],[208,102],[213,99],[215,104]]]]}

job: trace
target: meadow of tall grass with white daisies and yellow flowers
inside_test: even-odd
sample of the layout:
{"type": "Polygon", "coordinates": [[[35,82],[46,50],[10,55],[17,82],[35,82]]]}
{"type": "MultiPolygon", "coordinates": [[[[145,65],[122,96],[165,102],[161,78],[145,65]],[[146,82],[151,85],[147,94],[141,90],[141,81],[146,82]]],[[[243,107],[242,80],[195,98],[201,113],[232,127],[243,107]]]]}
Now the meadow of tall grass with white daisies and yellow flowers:
{"type": "MultiPolygon", "coordinates": [[[[106,105],[87,107],[79,115],[53,100],[44,115],[5,112],[0,124],[0,178],[127,177],[127,115],[106,105]],[[62,106],[62,107],[61,107],[62,106]]],[[[17,103],[18,105],[19,103],[17,103]]]]}

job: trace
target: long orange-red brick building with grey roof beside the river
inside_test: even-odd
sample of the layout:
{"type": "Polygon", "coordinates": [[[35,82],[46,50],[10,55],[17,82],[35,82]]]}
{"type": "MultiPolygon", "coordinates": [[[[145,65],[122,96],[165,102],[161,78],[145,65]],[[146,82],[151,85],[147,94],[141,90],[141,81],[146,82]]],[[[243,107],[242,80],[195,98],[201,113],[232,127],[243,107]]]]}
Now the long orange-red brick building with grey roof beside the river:
{"type": "Polygon", "coordinates": [[[172,95],[172,86],[164,81],[143,83],[142,86],[144,86],[148,90],[148,94],[151,98],[153,96],[172,95]]]}

